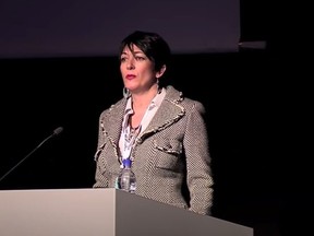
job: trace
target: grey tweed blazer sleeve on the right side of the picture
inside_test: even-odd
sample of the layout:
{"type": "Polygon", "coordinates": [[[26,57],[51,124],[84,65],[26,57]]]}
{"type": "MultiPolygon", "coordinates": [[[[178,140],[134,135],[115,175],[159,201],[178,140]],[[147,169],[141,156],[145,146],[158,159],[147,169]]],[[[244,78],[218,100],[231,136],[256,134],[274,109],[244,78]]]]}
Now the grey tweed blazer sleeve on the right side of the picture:
{"type": "Polygon", "coordinates": [[[208,133],[204,117],[203,104],[194,102],[189,113],[183,144],[186,155],[190,210],[210,215],[214,181],[210,169],[208,133]]]}

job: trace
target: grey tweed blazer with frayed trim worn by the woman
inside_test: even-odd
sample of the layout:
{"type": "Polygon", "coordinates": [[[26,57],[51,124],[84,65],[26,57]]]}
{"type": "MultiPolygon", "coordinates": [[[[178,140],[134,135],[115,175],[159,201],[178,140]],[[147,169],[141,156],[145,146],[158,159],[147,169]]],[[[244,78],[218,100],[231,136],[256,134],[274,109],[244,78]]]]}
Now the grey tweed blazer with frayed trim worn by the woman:
{"type": "MultiPolygon", "coordinates": [[[[173,86],[166,90],[160,107],[133,146],[135,194],[209,215],[214,181],[205,108],[173,86]]],[[[125,105],[122,98],[99,117],[94,188],[114,188],[125,105]]]]}

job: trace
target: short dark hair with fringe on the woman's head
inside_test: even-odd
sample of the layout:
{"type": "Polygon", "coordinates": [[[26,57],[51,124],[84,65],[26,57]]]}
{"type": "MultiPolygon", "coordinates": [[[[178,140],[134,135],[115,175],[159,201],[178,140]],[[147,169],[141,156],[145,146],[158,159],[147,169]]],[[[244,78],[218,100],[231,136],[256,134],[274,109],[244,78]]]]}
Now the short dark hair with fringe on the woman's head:
{"type": "Polygon", "coordinates": [[[132,45],[136,45],[154,62],[156,71],[159,71],[164,64],[168,66],[171,50],[160,35],[153,32],[133,32],[121,42],[120,56],[125,46],[132,50],[132,45]]]}

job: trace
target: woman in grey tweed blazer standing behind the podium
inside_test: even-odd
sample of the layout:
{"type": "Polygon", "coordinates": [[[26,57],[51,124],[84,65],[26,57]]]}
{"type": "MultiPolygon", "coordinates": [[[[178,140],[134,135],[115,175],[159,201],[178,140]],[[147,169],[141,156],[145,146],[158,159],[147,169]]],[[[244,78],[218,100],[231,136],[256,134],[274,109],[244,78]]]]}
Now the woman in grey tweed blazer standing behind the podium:
{"type": "Polygon", "coordinates": [[[204,106],[159,85],[170,58],[155,33],[134,32],[120,48],[124,97],[101,113],[94,188],[114,188],[124,158],[135,193],[210,214],[213,178],[204,106]]]}

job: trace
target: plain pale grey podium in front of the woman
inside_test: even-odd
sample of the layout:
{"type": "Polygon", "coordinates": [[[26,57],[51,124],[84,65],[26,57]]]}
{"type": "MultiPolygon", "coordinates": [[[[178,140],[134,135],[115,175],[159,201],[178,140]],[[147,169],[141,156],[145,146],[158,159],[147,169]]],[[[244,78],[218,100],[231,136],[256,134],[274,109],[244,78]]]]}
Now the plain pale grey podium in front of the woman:
{"type": "Polygon", "coordinates": [[[1,236],[253,236],[253,228],[117,189],[0,191],[1,236]]]}

